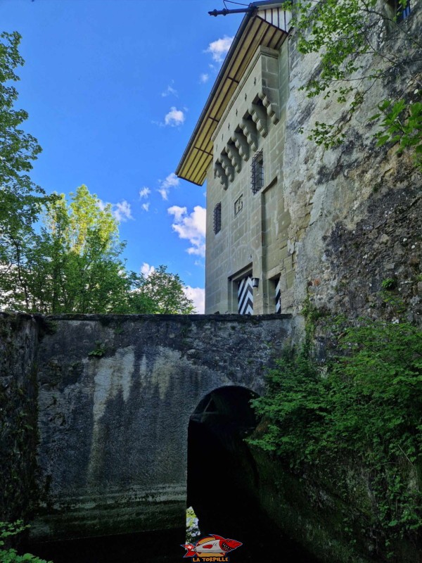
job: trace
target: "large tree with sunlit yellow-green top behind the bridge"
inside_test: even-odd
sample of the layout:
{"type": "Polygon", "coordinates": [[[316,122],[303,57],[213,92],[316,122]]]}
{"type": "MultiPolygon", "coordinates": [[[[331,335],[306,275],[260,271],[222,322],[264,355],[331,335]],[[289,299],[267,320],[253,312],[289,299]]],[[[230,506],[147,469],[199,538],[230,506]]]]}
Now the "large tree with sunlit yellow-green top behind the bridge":
{"type": "Polygon", "coordinates": [[[14,241],[3,301],[30,312],[106,312],[127,286],[109,209],[80,186],[46,205],[44,226],[14,241]]]}

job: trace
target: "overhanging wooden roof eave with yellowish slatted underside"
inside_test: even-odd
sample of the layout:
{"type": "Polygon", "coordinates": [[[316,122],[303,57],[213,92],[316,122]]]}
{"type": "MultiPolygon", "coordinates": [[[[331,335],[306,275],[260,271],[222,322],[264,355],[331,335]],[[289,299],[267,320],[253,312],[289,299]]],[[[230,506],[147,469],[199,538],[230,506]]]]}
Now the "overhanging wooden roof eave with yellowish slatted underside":
{"type": "Polygon", "coordinates": [[[212,134],[255,51],[260,45],[279,49],[287,37],[290,14],[283,11],[283,4],[263,1],[249,5],[181,157],[176,170],[179,178],[199,186],[205,182],[207,169],[212,163],[212,134]]]}

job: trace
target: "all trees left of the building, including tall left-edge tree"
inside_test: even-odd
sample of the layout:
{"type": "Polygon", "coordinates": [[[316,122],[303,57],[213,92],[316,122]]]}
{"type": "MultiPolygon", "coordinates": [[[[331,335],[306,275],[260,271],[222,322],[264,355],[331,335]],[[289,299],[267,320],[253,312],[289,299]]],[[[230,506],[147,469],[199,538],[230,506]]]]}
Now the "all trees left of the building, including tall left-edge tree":
{"type": "Polygon", "coordinates": [[[24,62],[19,43],[17,32],[0,34],[0,309],[192,312],[178,276],[160,267],[145,279],[126,269],[110,205],[103,207],[87,186],[70,194],[68,203],[31,181],[28,172],[41,147],[20,129],[27,113],[14,108],[15,69],[24,62]]]}

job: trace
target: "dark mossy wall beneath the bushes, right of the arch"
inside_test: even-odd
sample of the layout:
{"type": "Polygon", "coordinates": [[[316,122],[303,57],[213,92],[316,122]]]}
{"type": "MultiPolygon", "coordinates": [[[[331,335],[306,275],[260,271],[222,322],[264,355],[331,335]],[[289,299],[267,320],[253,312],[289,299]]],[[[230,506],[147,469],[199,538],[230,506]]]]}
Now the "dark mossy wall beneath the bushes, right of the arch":
{"type": "Polygon", "coordinates": [[[409,540],[392,540],[388,557],[375,524],[371,474],[357,460],[339,459],[328,478],[317,466],[294,473],[268,453],[254,448],[252,455],[258,474],[258,485],[249,486],[252,497],[321,562],[419,563],[420,546],[409,540]]]}

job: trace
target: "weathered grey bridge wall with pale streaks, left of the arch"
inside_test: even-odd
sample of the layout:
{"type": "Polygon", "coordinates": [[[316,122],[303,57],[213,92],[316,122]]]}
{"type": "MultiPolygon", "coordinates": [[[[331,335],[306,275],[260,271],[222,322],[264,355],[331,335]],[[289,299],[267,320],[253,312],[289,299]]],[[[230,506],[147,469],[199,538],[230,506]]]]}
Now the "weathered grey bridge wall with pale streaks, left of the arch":
{"type": "Polygon", "coordinates": [[[182,528],[187,431],[221,386],[262,393],[284,315],[65,315],[39,348],[34,540],[182,528]]]}

